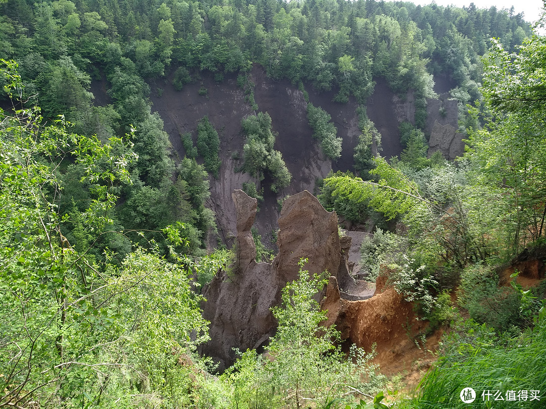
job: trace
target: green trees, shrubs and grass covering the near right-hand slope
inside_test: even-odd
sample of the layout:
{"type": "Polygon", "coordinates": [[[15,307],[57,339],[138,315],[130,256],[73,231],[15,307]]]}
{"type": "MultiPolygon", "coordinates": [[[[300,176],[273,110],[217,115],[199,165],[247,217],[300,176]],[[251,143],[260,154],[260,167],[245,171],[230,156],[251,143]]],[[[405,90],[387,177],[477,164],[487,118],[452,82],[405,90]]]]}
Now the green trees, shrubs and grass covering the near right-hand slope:
{"type": "Polygon", "coordinates": [[[416,397],[399,407],[464,407],[459,393],[468,387],[485,393],[476,396],[485,407],[499,396],[506,407],[542,405],[546,375],[529,371],[527,363],[542,368],[544,284],[524,290],[515,267],[511,286],[499,286],[507,265],[530,254],[544,260],[546,251],[544,61],[538,57],[545,47],[544,37],[532,37],[509,53],[494,41],[483,61],[484,126],[468,129],[458,166],[412,166],[402,156],[391,165],[376,159],[371,181],[350,175],[324,180],[327,206],[350,217],[371,207],[405,227],[405,233],[381,231],[364,241],[370,273],[388,266],[390,283],[435,324],[455,317],[444,291],[458,285],[458,305],[471,317],[455,322],[443,357],[416,397]]]}

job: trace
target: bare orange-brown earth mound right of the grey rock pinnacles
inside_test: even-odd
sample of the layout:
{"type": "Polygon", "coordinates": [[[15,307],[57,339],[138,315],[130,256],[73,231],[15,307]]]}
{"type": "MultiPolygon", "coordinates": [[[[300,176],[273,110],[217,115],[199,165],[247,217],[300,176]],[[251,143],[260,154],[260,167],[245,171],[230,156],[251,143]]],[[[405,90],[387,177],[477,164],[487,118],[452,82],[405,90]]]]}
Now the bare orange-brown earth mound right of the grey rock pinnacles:
{"type": "Polygon", "coordinates": [[[389,377],[399,376],[408,391],[417,386],[435,361],[442,331],[437,330],[423,343],[428,322],[417,320],[413,304],[403,300],[394,288],[385,288],[385,281],[385,276],[378,278],[372,298],[350,301],[340,297],[336,279],[330,277],[322,307],[328,310],[327,324],[334,323],[345,342],[367,352],[375,350],[372,362],[379,365],[379,371],[389,377]]]}

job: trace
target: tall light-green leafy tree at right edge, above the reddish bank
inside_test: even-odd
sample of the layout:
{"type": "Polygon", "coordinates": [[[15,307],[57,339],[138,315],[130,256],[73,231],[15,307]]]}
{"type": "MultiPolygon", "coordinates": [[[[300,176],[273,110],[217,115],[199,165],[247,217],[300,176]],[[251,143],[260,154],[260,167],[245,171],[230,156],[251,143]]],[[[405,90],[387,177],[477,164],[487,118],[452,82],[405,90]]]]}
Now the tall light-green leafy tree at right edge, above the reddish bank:
{"type": "MultiPolygon", "coordinates": [[[[494,43],[484,66],[485,101],[491,113],[485,127],[470,132],[465,154],[472,184],[498,198],[504,214],[492,226],[506,241],[507,256],[544,236],[544,123],[541,86],[544,41],[533,37],[518,56],[494,43]]],[[[476,110],[473,115],[477,116],[476,110]]]]}

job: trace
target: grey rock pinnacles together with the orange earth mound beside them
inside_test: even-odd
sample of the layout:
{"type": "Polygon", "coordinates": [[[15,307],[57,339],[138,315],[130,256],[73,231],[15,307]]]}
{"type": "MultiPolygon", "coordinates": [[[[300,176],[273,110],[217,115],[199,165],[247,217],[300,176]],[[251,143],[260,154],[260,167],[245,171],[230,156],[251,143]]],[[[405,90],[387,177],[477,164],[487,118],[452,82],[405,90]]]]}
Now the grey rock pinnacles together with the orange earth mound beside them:
{"type": "Polygon", "coordinates": [[[416,319],[412,303],[385,286],[386,276],[379,277],[375,291],[353,279],[352,238],[339,237],[335,212],[324,210],[308,191],[289,197],[278,220],[278,255],[272,263],[256,263],[250,228],[257,201],[242,190],[232,196],[238,227],[236,260],[204,289],[203,315],[211,322],[211,340],[200,353],[212,357],[219,370],[235,362],[233,348],[261,352],[275,335],[271,307],[280,302],[287,282],[298,279],[300,258],[308,258],[304,268],[311,275],[330,273],[329,284],[317,300],[328,310],[326,324],[335,324],[342,340],[368,352],[376,348],[378,359],[385,362],[396,362],[417,348],[413,338],[423,332],[426,322],[416,319]]]}

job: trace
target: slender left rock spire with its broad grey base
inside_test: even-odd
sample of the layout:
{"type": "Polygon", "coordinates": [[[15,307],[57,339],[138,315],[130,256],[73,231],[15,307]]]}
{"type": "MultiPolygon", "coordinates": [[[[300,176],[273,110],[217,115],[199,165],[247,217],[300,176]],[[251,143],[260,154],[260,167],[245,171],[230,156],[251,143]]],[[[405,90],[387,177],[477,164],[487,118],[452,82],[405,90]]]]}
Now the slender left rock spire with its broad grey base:
{"type": "Polygon", "coordinates": [[[235,262],[204,288],[207,301],[202,305],[203,316],[211,322],[211,341],[200,352],[215,358],[220,371],[235,361],[233,348],[257,349],[269,339],[275,329],[270,308],[276,304],[279,286],[271,264],[255,260],[251,227],[257,200],[242,190],[235,190],[232,198],[237,215],[235,262]]]}

